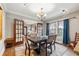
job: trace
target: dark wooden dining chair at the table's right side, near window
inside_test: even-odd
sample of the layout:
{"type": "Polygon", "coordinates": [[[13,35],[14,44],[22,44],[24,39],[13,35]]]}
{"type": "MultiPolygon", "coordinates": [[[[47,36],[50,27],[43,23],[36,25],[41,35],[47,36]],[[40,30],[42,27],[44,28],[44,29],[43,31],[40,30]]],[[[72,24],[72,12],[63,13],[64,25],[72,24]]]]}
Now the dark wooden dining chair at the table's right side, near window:
{"type": "MultiPolygon", "coordinates": [[[[56,42],[56,37],[57,37],[57,35],[49,35],[48,36],[48,39],[45,41],[45,42],[41,42],[41,50],[44,50],[44,49],[46,49],[46,55],[48,55],[48,52],[47,52],[47,49],[50,49],[51,50],[51,52],[50,52],[50,54],[52,54],[52,45],[54,45],[54,50],[56,49],[56,47],[55,47],[55,42],[56,42]]],[[[43,52],[42,52],[43,53],[43,52]]]]}

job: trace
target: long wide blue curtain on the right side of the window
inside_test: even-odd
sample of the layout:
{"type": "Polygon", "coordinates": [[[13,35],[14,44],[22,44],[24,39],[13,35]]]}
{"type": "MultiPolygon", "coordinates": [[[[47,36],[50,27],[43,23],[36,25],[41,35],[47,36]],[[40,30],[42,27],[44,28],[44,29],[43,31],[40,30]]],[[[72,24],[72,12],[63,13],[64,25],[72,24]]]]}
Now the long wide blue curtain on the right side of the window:
{"type": "Polygon", "coordinates": [[[67,45],[69,42],[69,19],[64,20],[63,43],[67,45]]]}

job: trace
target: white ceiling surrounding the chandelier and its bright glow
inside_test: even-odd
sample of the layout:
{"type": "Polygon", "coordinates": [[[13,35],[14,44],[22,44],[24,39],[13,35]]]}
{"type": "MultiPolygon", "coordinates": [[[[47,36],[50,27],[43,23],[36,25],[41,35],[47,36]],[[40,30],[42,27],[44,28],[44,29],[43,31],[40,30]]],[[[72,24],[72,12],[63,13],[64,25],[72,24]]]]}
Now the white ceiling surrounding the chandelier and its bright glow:
{"type": "MultiPolygon", "coordinates": [[[[26,3],[26,4],[25,3],[3,3],[3,6],[6,12],[25,16],[26,18],[29,18],[31,20],[39,20],[39,18],[36,16],[36,13],[32,11],[32,8],[31,9],[29,8],[30,4],[42,5],[41,3],[26,3]]],[[[48,6],[48,3],[43,3],[43,5],[44,4],[46,7],[50,7],[48,6]]],[[[52,6],[53,8],[51,9],[51,11],[46,12],[47,15],[44,20],[48,20],[50,18],[64,15],[62,10],[66,10],[65,14],[69,14],[79,10],[79,3],[50,3],[50,4],[54,6],[52,6]]]]}

